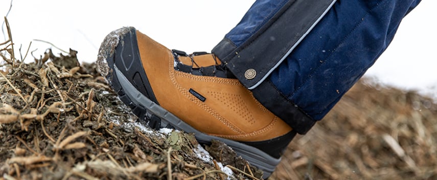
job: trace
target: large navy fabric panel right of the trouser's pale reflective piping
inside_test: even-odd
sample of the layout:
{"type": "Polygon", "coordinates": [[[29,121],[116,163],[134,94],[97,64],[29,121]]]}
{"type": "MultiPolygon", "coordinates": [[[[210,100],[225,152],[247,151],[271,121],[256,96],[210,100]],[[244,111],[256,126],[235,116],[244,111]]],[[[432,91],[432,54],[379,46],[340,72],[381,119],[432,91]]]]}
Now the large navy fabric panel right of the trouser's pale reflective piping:
{"type": "Polygon", "coordinates": [[[269,80],[322,119],[392,41],[419,1],[337,1],[269,80]]]}

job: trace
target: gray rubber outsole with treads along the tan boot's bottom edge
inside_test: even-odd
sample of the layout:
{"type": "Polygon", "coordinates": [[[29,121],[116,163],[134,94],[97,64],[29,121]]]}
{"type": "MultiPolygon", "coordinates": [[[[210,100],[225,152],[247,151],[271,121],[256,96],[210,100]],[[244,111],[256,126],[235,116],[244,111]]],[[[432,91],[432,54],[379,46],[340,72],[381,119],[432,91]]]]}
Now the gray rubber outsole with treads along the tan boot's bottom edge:
{"type": "Polygon", "coordinates": [[[148,99],[141,92],[137,91],[137,89],[121,73],[121,71],[117,68],[115,64],[113,66],[113,70],[114,72],[112,73],[117,76],[123,93],[129,97],[130,101],[132,101],[134,105],[140,105],[146,108],[148,110],[148,113],[153,114],[159,117],[161,121],[164,121],[164,123],[161,124],[161,127],[166,127],[167,124],[170,124],[175,127],[175,129],[182,130],[188,133],[193,132],[196,139],[200,142],[211,142],[211,140],[221,141],[231,147],[238,155],[240,155],[243,159],[247,160],[251,165],[254,165],[259,169],[263,170],[263,178],[269,177],[270,174],[274,171],[275,167],[280,163],[281,159],[273,158],[269,154],[257,148],[236,141],[210,136],[196,130],[195,128],[180,120],[178,117],[171,114],[163,107],[148,99]]]}

